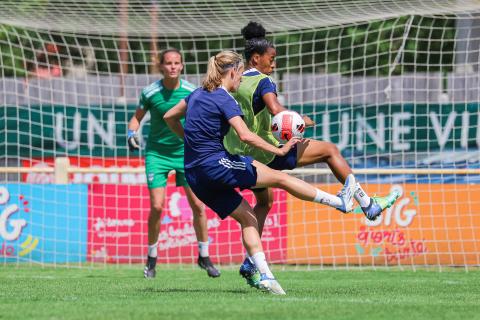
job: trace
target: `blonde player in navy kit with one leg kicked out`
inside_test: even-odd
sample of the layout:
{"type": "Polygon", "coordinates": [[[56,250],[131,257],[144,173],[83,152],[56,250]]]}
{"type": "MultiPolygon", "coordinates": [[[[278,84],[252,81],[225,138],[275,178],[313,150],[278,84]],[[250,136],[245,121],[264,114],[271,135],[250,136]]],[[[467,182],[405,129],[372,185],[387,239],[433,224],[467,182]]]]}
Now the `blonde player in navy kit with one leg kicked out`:
{"type": "Polygon", "coordinates": [[[336,196],[252,157],[227,152],[223,138],[230,128],[242,142],[274,156],[285,156],[299,141],[293,138],[277,148],[248,129],[240,106],[230,94],[238,89],[243,70],[242,57],[235,52],[223,51],[211,57],[203,87],[168,111],[164,119],[172,131],[184,137],[185,176],[192,191],[220,218],[230,216],[240,224],[244,247],[260,272],[259,288],[285,294],[266,261],[254,210],[235,188],[282,188],[302,200],[348,212],[353,205],[355,178],[349,175],[336,196]]]}

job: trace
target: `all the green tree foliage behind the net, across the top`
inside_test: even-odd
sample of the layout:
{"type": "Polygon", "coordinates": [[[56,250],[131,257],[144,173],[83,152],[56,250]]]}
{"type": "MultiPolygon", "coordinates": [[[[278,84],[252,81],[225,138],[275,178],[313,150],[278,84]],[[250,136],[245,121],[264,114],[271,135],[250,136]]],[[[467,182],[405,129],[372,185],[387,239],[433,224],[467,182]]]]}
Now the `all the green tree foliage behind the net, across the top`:
{"type": "MultiPolygon", "coordinates": [[[[280,73],[328,72],[344,75],[387,75],[403,42],[409,17],[371,21],[365,24],[326,27],[274,34],[280,73]]],[[[44,42],[55,42],[60,54],[71,56],[82,46],[95,48],[99,72],[119,72],[119,42],[116,36],[50,35],[0,25],[0,71],[4,76],[26,74],[25,61],[44,42]],[[73,50],[72,50],[73,48],[73,50]],[[33,50],[32,50],[33,49],[33,50]]],[[[448,72],[454,59],[455,20],[415,17],[403,56],[394,74],[403,72],[448,72]]],[[[150,39],[129,38],[128,64],[131,73],[146,73],[151,64],[150,39]]],[[[177,47],[184,52],[187,73],[204,73],[206,61],[216,52],[243,47],[239,35],[232,37],[161,38],[157,47],[177,47]]]]}

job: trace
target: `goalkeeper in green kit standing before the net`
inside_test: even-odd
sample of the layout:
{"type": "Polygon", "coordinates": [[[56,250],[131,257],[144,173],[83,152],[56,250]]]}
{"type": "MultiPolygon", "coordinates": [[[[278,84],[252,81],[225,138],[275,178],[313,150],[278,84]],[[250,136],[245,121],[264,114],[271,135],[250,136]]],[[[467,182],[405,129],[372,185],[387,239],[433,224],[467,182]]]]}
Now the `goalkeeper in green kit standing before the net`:
{"type": "Polygon", "coordinates": [[[212,264],[208,253],[207,217],[203,203],[193,194],[185,180],[183,167],[183,141],[165,124],[163,115],[179,101],[195,90],[191,83],[180,79],[183,59],[179,50],[168,49],[159,56],[159,69],[163,79],[142,90],[139,107],[128,124],[130,151],[139,149],[136,131],[145,114],[150,111],[150,134],[147,140],[145,171],[150,193],[148,217],[148,256],[144,269],[145,278],[154,278],[157,263],[157,243],[160,232],[160,216],[165,202],[165,186],[168,173],[176,172],[177,186],[183,186],[193,211],[193,227],[198,240],[198,265],[210,277],[219,277],[220,272],[212,264]]]}

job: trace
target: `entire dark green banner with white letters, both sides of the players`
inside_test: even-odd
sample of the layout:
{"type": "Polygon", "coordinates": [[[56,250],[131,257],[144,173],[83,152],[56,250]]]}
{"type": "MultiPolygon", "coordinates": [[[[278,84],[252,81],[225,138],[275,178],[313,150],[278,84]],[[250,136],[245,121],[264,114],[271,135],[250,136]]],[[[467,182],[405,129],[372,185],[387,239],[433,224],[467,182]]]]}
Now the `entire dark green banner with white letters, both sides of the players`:
{"type": "MultiPolygon", "coordinates": [[[[127,124],[136,105],[7,106],[1,109],[8,157],[128,156],[127,124]]],[[[304,105],[316,126],[306,137],[332,141],[345,152],[391,154],[477,150],[478,103],[381,106],[304,105]]],[[[148,121],[142,129],[148,133],[148,121]]]]}

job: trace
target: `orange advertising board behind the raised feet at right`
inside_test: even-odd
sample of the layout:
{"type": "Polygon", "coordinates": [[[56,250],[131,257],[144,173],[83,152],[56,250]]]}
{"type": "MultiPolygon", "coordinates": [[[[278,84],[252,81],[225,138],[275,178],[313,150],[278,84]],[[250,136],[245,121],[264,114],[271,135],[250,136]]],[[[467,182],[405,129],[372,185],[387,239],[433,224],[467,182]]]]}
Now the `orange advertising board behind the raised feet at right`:
{"type": "MultiPolygon", "coordinates": [[[[338,186],[319,185],[336,192],[338,186]]],[[[367,185],[401,197],[368,221],[289,196],[288,263],[326,265],[479,265],[480,186],[367,185]]]]}

